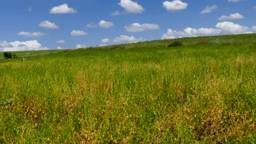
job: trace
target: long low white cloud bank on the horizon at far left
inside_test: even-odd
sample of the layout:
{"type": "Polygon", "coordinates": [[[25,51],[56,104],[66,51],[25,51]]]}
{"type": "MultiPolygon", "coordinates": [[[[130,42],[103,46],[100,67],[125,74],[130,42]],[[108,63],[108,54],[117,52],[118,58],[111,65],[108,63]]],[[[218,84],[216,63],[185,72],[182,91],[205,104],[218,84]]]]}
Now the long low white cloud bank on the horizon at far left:
{"type": "Polygon", "coordinates": [[[32,51],[32,50],[49,50],[48,47],[42,47],[37,40],[30,41],[0,41],[0,51],[32,51]]]}

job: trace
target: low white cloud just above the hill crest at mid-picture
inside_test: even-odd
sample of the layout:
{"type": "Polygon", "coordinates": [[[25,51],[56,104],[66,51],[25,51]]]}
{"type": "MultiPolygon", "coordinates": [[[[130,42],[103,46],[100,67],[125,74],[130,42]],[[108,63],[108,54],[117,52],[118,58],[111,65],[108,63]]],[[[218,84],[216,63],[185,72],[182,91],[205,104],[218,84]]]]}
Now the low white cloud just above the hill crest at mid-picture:
{"type": "Polygon", "coordinates": [[[113,40],[115,44],[123,44],[123,43],[137,43],[139,41],[145,41],[143,38],[135,38],[133,36],[129,37],[127,35],[120,35],[113,40]]]}

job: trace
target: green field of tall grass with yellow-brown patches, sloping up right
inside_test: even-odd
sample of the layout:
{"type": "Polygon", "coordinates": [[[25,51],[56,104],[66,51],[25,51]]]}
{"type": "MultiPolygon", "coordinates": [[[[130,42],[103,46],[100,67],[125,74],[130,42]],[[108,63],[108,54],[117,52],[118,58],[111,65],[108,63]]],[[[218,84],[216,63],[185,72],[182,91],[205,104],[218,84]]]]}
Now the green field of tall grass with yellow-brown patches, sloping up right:
{"type": "Polygon", "coordinates": [[[0,60],[0,143],[255,143],[256,34],[0,60]]]}

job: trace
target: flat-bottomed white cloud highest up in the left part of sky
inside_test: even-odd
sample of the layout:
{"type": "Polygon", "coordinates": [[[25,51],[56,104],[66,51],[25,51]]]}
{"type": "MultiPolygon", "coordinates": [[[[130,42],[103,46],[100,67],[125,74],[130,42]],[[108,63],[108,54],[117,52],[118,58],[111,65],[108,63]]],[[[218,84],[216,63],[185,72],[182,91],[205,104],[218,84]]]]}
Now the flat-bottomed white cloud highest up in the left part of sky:
{"type": "Polygon", "coordinates": [[[77,11],[73,8],[68,8],[68,5],[66,3],[53,7],[50,12],[50,14],[73,14],[77,13],[77,11]]]}

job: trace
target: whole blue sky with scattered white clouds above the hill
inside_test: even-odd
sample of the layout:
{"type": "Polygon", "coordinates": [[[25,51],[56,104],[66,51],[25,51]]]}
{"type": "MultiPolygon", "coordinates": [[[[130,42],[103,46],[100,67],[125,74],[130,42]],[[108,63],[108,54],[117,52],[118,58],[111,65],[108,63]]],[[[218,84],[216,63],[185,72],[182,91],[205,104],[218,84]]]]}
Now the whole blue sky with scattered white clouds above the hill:
{"type": "Polygon", "coordinates": [[[255,0],[3,0],[0,51],[256,32],[255,0]]]}

